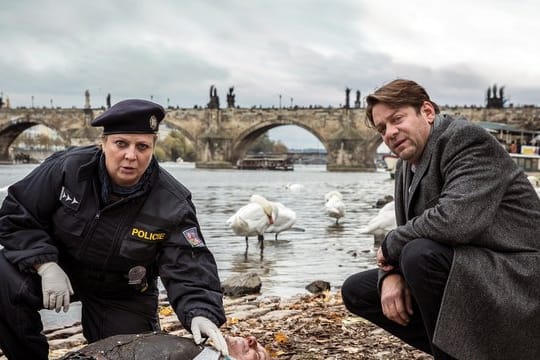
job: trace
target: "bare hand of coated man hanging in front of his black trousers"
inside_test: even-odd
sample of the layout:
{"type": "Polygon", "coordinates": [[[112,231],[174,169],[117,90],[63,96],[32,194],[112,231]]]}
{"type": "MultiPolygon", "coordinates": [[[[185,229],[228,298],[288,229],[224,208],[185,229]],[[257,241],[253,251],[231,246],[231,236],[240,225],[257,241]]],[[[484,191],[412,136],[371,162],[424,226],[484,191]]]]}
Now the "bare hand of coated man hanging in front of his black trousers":
{"type": "Polygon", "coordinates": [[[381,305],[384,316],[406,326],[413,314],[411,293],[400,274],[390,274],[381,285],[381,305]]]}

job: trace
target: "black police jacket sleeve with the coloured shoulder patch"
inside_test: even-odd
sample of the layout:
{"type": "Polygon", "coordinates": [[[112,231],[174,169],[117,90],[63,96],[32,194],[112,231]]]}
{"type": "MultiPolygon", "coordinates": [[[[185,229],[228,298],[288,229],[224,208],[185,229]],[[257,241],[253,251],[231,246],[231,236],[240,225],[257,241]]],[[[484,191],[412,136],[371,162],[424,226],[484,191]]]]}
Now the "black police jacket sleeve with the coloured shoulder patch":
{"type": "Polygon", "coordinates": [[[206,247],[190,197],[180,207],[181,221],[161,250],[159,275],[186,329],[191,328],[195,316],[204,316],[220,326],[226,318],[214,256],[206,247]]]}

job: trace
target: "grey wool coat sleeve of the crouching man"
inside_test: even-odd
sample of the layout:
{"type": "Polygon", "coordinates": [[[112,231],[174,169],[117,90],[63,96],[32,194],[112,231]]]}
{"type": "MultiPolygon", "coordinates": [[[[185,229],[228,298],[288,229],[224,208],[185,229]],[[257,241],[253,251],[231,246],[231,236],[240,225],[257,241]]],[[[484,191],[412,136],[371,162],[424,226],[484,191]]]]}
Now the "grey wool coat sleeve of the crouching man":
{"type": "Polygon", "coordinates": [[[423,210],[388,234],[385,256],[396,264],[403,246],[418,238],[449,246],[480,238],[493,223],[516,172],[502,146],[482,128],[447,130],[435,144],[413,199],[422,199],[423,210]]]}

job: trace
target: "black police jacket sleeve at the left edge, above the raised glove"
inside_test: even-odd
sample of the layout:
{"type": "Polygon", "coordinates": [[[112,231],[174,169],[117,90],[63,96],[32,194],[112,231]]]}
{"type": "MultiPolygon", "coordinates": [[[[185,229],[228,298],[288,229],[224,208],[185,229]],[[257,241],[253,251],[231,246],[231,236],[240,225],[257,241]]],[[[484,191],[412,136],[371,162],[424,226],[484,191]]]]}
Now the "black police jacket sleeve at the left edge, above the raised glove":
{"type": "Polygon", "coordinates": [[[6,258],[21,271],[34,271],[34,264],[58,259],[50,222],[58,206],[61,178],[53,155],[8,189],[0,209],[0,244],[6,258]]]}

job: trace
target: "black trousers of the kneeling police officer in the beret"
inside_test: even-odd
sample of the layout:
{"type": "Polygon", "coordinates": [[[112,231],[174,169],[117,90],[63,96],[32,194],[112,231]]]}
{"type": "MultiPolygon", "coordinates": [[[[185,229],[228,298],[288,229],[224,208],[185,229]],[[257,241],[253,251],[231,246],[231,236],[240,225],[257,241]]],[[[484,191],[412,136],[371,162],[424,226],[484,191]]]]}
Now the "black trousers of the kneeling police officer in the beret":
{"type": "MultiPolygon", "coordinates": [[[[64,270],[68,276],[77,271],[64,270]]],[[[160,329],[155,280],[140,293],[127,284],[83,283],[73,278],[70,276],[75,296],[71,300],[82,303],[83,335],[89,343],[160,329]]],[[[8,359],[48,359],[49,345],[39,314],[42,308],[41,277],[21,273],[0,250],[0,348],[8,359]]]]}

